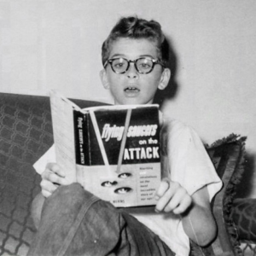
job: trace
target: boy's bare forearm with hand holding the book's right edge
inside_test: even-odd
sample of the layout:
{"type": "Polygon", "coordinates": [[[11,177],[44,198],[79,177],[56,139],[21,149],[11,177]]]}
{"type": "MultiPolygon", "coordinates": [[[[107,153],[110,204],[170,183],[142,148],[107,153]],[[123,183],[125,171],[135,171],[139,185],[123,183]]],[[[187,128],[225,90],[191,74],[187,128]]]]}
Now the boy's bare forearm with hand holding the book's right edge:
{"type": "Polygon", "coordinates": [[[189,195],[179,183],[164,178],[156,193],[156,212],[172,212],[182,216],[183,230],[199,246],[207,246],[216,236],[207,187],[189,195]]]}

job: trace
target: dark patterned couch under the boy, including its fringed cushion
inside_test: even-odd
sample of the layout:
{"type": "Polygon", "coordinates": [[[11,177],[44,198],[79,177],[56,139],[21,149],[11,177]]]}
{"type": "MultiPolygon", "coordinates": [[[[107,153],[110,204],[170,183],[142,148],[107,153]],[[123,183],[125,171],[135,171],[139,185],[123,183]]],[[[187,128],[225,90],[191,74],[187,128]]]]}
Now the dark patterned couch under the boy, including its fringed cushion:
{"type": "MultiPolygon", "coordinates": [[[[101,104],[74,102],[81,108],[101,104]]],[[[236,185],[244,172],[245,141],[231,134],[206,145],[224,181],[212,201],[218,236],[205,248],[191,242],[191,255],[243,255],[241,242],[251,247],[256,241],[255,221],[248,220],[256,212],[256,203],[236,198],[236,185]]],[[[0,93],[0,255],[26,255],[36,234],[30,208],[41,177],[32,165],[52,143],[49,97],[0,93]]]]}

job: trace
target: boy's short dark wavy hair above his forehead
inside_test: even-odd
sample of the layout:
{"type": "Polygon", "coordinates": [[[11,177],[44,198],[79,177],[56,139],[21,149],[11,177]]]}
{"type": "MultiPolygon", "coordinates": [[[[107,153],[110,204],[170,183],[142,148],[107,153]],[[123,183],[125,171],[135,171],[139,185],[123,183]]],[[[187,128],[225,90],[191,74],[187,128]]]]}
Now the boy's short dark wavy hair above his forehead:
{"type": "Polygon", "coordinates": [[[165,65],[169,61],[169,46],[161,30],[160,23],[155,20],[143,20],[136,16],[121,18],[113,26],[108,38],[102,44],[102,64],[108,60],[111,44],[119,38],[146,38],[155,43],[159,51],[159,59],[165,65]]]}

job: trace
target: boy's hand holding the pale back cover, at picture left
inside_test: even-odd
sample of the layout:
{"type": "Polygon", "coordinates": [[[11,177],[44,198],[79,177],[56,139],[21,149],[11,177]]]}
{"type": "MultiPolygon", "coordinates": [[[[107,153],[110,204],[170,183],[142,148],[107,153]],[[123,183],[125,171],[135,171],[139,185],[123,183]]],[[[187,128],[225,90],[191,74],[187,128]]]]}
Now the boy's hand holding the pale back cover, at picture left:
{"type": "Polygon", "coordinates": [[[55,163],[48,163],[41,177],[42,181],[40,186],[44,197],[52,195],[59,185],[67,185],[65,173],[61,170],[60,166],[55,163]]]}

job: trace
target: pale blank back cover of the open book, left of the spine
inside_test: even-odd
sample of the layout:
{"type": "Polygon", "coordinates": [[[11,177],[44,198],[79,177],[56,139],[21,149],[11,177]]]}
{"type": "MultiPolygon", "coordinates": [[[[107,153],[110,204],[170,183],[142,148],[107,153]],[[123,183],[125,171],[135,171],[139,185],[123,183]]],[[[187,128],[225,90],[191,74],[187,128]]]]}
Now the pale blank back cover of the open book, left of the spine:
{"type": "Polygon", "coordinates": [[[66,172],[67,181],[73,183],[76,182],[73,109],[79,107],[51,90],[50,108],[57,164],[66,172]]]}

